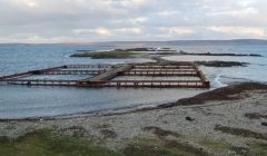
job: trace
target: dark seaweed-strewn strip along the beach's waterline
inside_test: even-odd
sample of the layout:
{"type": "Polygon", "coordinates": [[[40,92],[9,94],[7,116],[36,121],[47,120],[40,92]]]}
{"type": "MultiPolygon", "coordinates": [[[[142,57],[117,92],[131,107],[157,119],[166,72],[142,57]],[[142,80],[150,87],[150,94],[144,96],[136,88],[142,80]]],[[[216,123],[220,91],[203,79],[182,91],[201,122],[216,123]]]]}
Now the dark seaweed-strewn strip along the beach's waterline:
{"type": "Polygon", "coordinates": [[[47,116],[47,117],[26,117],[26,118],[0,118],[0,123],[8,121],[46,121],[46,120],[60,120],[60,119],[72,119],[80,117],[93,117],[93,116],[117,116],[135,113],[145,113],[152,111],[158,109],[166,109],[172,107],[198,107],[205,105],[209,101],[219,101],[219,100],[239,100],[244,98],[240,94],[246,91],[254,90],[267,90],[267,85],[259,82],[239,82],[231,84],[226,87],[215,88],[212,90],[207,90],[205,92],[198,94],[192,97],[181,98],[174,103],[149,105],[149,106],[136,106],[136,107],[125,107],[118,109],[107,109],[107,110],[96,110],[88,113],[77,113],[69,115],[59,115],[59,116],[47,116]],[[233,96],[235,95],[235,96],[233,96]]]}

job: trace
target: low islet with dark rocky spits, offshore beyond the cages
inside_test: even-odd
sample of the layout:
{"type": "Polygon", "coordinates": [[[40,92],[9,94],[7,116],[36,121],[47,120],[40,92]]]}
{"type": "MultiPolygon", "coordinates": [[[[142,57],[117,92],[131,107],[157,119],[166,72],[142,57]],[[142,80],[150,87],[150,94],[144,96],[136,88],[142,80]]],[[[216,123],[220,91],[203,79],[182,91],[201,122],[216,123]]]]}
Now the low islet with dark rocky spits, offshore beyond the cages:
{"type": "MultiPolygon", "coordinates": [[[[243,55],[243,53],[191,53],[184,50],[176,51],[170,48],[129,48],[129,49],[115,49],[109,51],[90,51],[77,50],[81,53],[73,53],[70,57],[88,57],[91,59],[126,59],[126,58],[147,58],[157,59],[165,56],[230,56],[230,57],[263,57],[260,55],[243,55]]],[[[197,65],[207,67],[246,67],[248,62],[239,61],[196,61],[197,65]]]]}

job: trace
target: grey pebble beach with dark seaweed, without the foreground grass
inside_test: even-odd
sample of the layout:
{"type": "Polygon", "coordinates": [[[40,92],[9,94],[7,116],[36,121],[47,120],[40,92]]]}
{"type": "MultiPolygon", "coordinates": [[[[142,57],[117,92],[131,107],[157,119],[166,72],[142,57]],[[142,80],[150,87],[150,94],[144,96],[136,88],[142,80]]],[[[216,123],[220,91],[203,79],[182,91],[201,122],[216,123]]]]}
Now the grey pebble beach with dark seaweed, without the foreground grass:
{"type": "Polygon", "coordinates": [[[202,144],[202,139],[228,145],[221,147],[220,154],[235,153],[233,147],[251,153],[256,143],[267,146],[266,126],[264,126],[266,98],[267,85],[246,82],[215,89],[157,108],[126,114],[0,120],[0,136],[17,138],[38,129],[53,128],[58,131],[65,129],[65,134],[68,135],[78,130],[87,139],[92,137],[103,139],[101,146],[115,150],[125,148],[125,145],[138,137],[160,142],[176,140],[214,155],[216,155],[214,148],[202,144]],[[256,115],[259,116],[256,119],[248,117],[256,115]],[[113,136],[107,136],[107,131],[113,136]],[[168,131],[168,135],[159,136],[162,131],[168,131]],[[175,134],[179,134],[179,137],[175,134]]]}

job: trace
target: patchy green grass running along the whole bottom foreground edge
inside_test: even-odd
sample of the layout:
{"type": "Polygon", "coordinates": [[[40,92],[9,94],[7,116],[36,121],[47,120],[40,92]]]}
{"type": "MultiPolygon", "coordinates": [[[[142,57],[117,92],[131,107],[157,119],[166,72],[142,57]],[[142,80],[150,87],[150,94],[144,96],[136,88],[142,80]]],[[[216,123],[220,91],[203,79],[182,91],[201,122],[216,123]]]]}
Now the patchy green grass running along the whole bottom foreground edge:
{"type": "MultiPolygon", "coordinates": [[[[186,138],[177,138],[185,140],[186,138]]],[[[0,137],[0,156],[206,156],[209,155],[200,148],[177,139],[135,138],[126,144],[121,150],[110,150],[95,145],[92,142],[57,133],[55,130],[37,130],[18,139],[9,140],[0,137]]],[[[235,150],[240,155],[250,155],[248,149],[233,147],[224,142],[201,139],[198,145],[208,148],[214,154],[235,150]],[[244,152],[245,150],[245,152],[244,152]]],[[[267,155],[267,145],[250,143],[250,149],[256,155],[267,155]]]]}

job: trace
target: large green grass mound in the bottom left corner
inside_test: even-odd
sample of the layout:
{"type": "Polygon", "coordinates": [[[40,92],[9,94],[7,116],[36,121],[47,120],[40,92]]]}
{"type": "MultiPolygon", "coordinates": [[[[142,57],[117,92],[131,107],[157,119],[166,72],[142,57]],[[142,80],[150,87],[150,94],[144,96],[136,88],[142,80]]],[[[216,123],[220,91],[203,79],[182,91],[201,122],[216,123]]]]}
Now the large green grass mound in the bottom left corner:
{"type": "Polygon", "coordinates": [[[91,142],[52,130],[38,130],[14,140],[0,138],[0,156],[121,156],[91,142]]]}

